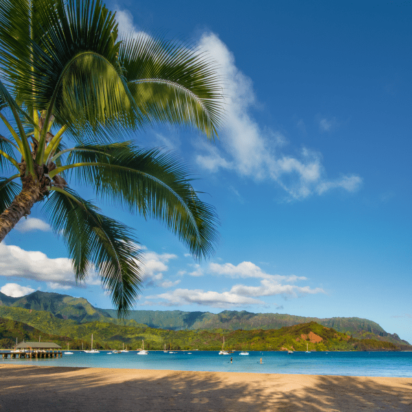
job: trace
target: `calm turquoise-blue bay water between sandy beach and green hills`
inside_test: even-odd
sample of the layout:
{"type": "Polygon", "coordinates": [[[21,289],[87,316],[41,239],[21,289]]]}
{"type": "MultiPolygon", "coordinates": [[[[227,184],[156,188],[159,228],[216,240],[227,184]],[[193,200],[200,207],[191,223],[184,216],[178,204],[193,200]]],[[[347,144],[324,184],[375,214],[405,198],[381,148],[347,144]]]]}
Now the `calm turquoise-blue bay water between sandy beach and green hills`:
{"type": "Polygon", "coordinates": [[[0,359],[0,364],[412,378],[412,352],[249,352],[249,356],[240,356],[239,352],[232,355],[201,351],[137,355],[137,352],[108,354],[102,351],[100,354],[74,352],[57,359],[0,359]]]}

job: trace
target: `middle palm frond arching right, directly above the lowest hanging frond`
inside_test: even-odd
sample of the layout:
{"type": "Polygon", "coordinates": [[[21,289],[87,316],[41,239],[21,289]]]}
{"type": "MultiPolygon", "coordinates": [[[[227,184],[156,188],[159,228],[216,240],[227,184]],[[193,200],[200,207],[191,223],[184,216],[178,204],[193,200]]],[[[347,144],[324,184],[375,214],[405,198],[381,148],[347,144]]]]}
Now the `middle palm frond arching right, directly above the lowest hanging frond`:
{"type": "Polygon", "coordinates": [[[198,198],[190,184],[193,179],[179,159],[159,149],[139,149],[126,142],[77,147],[67,164],[62,169],[79,165],[73,168],[79,183],[95,187],[98,196],[163,222],[195,259],[214,253],[218,240],[216,211],[198,198]]]}

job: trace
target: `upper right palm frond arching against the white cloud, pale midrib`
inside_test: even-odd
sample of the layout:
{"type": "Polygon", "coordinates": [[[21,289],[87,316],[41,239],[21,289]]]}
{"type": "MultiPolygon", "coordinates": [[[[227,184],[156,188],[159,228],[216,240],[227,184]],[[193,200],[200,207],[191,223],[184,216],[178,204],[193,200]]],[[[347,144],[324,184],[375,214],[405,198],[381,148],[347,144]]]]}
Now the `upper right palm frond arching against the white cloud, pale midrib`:
{"type": "Polygon", "coordinates": [[[190,45],[145,33],[126,38],[119,60],[139,111],[151,122],[181,124],[217,137],[223,106],[214,62],[190,45]]]}

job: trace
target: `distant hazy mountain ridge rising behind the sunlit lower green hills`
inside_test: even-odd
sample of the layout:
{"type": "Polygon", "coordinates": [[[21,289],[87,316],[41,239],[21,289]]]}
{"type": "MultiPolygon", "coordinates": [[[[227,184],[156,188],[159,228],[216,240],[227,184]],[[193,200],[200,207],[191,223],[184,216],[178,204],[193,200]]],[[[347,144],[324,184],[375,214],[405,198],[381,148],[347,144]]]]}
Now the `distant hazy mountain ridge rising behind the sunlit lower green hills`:
{"type": "MultiPolygon", "coordinates": [[[[23,297],[8,297],[0,293],[0,308],[24,308],[43,310],[59,319],[75,323],[102,321],[119,323],[117,312],[92,306],[87,299],[36,291],[23,297]]],[[[16,319],[23,320],[23,319],[16,319]]],[[[25,320],[23,320],[25,321],[25,320]]],[[[378,323],[358,317],[334,317],[319,319],[279,313],[252,313],[242,310],[224,310],[218,314],[211,312],[183,312],[181,310],[132,310],[127,325],[144,324],[150,328],[168,330],[255,330],[280,329],[301,323],[316,322],[337,332],[352,335],[356,339],[377,339],[396,345],[409,345],[398,334],[389,334],[378,323]]]]}

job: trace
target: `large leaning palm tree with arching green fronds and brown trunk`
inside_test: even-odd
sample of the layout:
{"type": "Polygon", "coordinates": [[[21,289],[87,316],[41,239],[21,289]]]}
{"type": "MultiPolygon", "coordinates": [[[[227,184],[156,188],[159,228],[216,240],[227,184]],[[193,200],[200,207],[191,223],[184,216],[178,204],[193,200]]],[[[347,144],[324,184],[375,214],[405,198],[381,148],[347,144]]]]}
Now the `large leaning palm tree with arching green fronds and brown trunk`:
{"type": "Polygon", "coordinates": [[[0,0],[0,41],[0,118],[10,134],[0,136],[0,242],[43,203],[76,279],[98,271],[123,317],[139,292],[137,242],[67,182],[161,220],[194,258],[208,257],[214,208],[179,159],[124,136],[162,122],[214,140],[222,113],[214,67],[182,43],[117,40],[115,14],[100,0],[0,0]]]}

